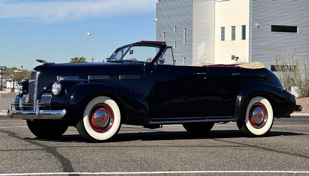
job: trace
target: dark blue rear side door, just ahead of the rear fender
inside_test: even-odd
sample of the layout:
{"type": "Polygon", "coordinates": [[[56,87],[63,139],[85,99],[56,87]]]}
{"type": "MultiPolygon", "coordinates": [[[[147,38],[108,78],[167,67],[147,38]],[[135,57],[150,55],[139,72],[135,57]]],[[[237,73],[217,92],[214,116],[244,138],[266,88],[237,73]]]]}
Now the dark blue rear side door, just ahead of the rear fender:
{"type": "Polygon", "coordinates": [[[239,67],[207,67],[210,84],[210,117],[233,116],[242,87],[239,67]]]}

